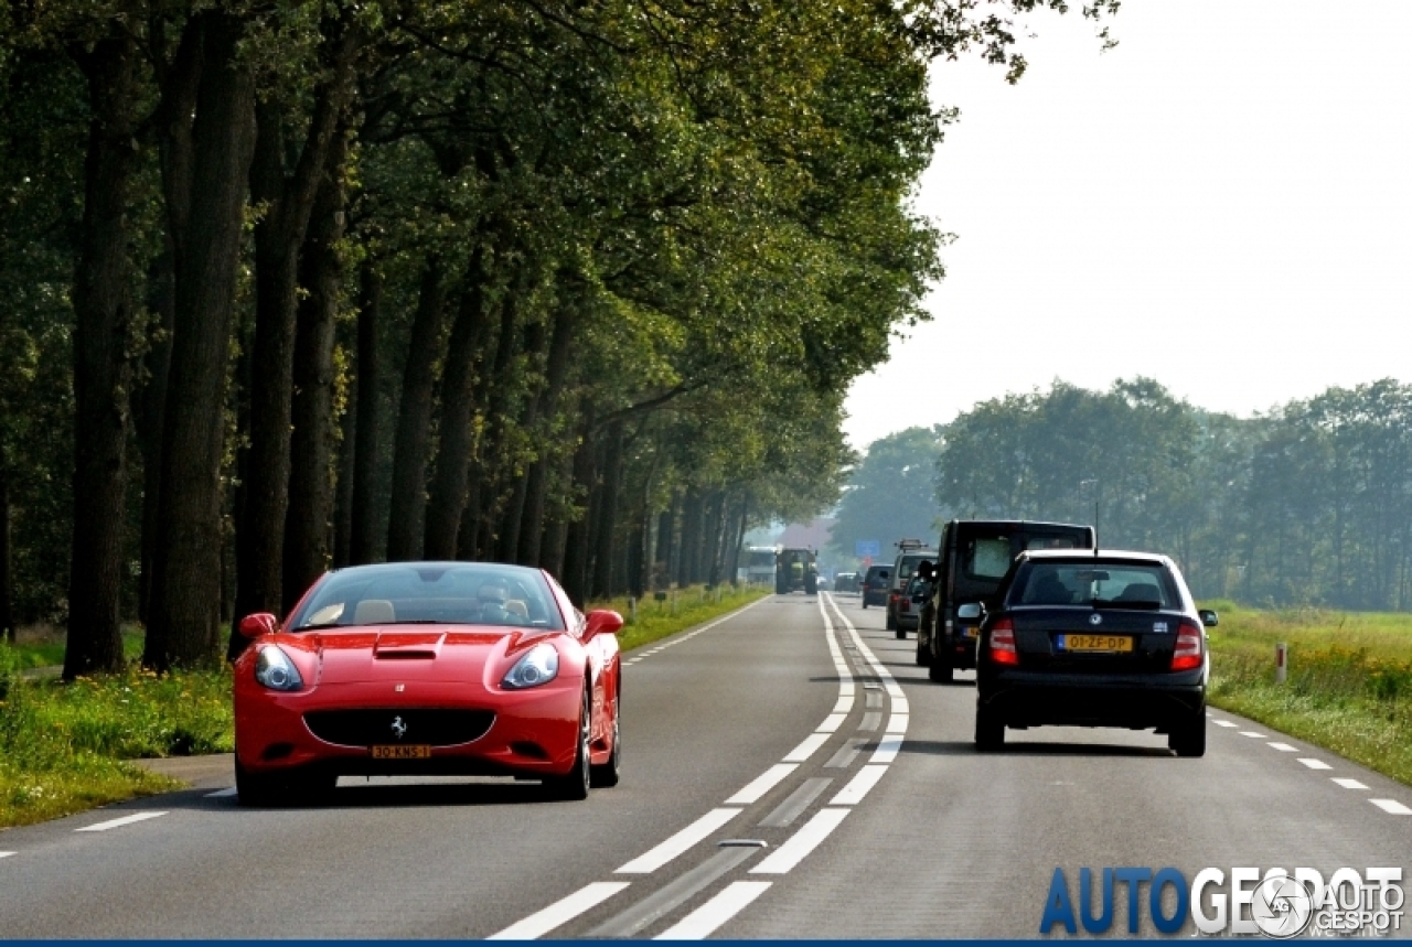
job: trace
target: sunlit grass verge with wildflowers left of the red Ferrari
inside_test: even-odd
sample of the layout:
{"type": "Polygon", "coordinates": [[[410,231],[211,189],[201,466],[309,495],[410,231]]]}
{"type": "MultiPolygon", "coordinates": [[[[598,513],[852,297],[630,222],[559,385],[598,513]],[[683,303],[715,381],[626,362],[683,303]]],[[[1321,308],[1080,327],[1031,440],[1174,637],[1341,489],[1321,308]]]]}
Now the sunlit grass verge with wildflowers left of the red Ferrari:
{"type": "Polygon", "coordinates": [[[182,783],[130,759],[229,752],[230,672],[27,680],[0,646],[0,827],[147,796],[182,783]]]}

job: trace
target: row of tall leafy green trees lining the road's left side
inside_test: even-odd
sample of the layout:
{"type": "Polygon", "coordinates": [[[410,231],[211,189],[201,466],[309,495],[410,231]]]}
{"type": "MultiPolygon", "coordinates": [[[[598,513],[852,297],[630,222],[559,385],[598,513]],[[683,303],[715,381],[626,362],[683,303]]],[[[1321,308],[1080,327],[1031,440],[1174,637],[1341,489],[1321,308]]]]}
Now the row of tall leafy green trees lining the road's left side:
{"type": "Polygon", "coordinates": [[[3,627],[161,670],[329,563],[720,577],[940,275],[926,62],[1036,6],[10,4],[3,627]]]}

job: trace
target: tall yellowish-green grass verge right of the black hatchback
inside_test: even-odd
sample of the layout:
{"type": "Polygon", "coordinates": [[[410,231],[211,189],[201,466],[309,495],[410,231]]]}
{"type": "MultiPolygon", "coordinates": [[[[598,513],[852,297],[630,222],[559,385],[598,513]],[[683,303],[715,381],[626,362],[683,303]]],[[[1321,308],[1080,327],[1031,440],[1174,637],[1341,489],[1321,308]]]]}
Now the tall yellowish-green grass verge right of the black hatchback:
{"type": "Polygon", "coordinates": [[[1412,785],[1412,615],[1204,603],[1211,704],[1412,785]],[[1275,642],[1289,645],[1275,683],[1275,642]]]}

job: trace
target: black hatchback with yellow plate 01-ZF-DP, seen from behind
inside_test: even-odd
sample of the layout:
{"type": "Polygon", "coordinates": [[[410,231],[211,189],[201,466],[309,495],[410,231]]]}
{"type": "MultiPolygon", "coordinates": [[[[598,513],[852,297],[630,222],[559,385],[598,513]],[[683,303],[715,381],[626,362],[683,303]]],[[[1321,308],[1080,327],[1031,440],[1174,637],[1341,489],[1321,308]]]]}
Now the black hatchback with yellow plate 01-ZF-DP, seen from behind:
{"type": "MultiPolygon", "coordinates": [[[[964,614],[960,614],[963,613],[964,614]]],[[[1005,727],[1155,727],[1178,756],[1206,754],[1206,628],[1182,573],[1139,552],[1034,550],[1011,565],[981,618],[976,747],[1005,727]]]]}

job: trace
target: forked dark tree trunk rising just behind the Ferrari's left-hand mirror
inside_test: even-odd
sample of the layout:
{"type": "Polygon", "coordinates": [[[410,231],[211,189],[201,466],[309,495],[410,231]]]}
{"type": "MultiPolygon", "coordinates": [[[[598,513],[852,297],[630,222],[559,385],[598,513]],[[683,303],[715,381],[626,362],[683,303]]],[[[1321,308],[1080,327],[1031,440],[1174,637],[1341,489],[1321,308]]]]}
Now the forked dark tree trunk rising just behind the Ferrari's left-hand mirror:
{"type": "MultiPolygon", "coordinates": [[[[289,443],[294,402],[299,253],[305,243],[329,152],[339,148],[339,120],[352,92],[357,30],[350,18],[326,23],[323,78],[292,174],[285,168],[287,104],[274,97],[256,106],[256,157],[250,198],[265,207],[254,227],[256,340],[250,390],[250,456],[246,498],[236,528],[236,622],[256,611],[280,611],[284,529],[289,508],[289,443]]],[[[301,567],[297,570],[305,572],[301,567]]],[[[232,628],[232,637],[239,631],[232,628]]],[[[232,641],[232,648],[236,648],[232,641]]]]}

